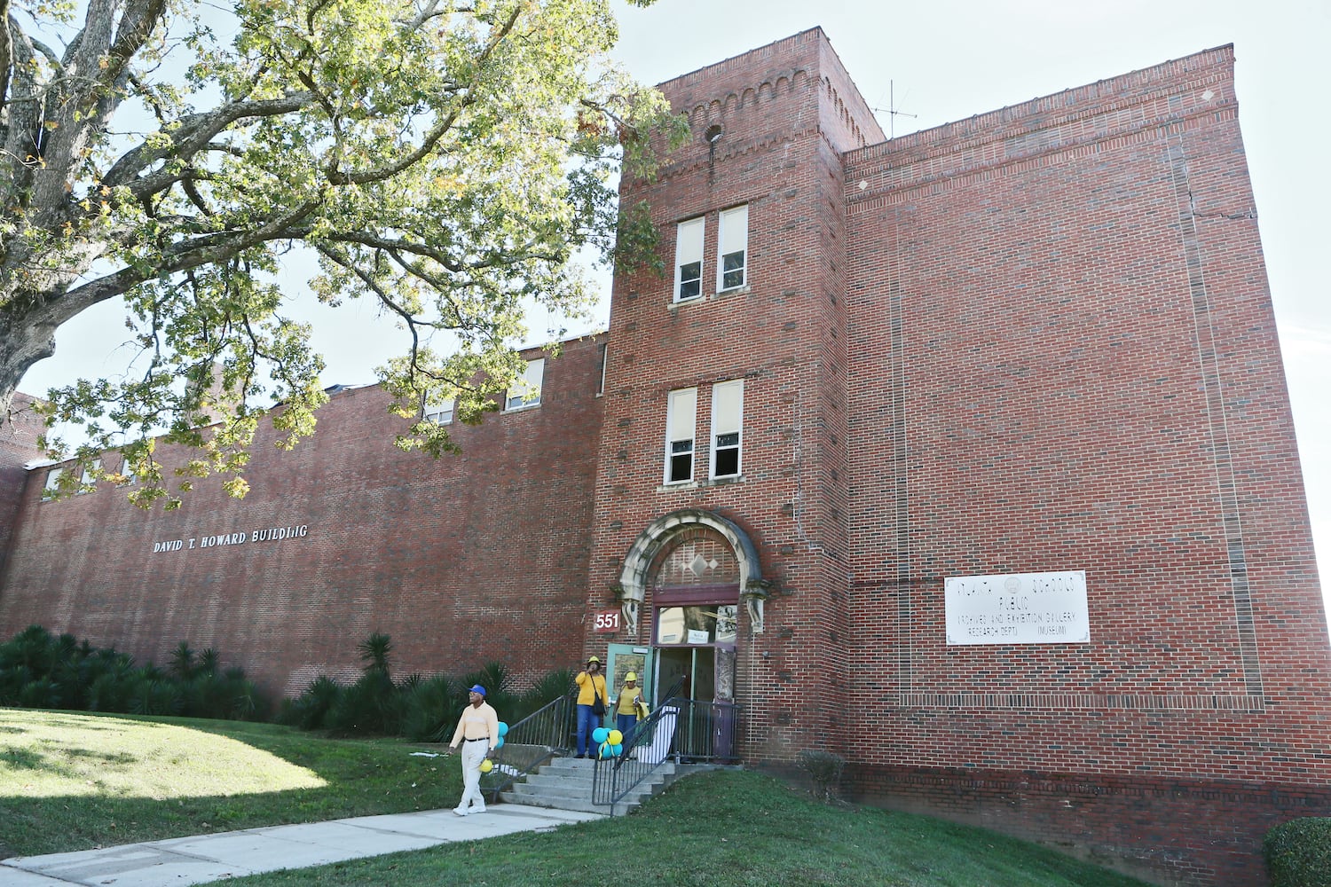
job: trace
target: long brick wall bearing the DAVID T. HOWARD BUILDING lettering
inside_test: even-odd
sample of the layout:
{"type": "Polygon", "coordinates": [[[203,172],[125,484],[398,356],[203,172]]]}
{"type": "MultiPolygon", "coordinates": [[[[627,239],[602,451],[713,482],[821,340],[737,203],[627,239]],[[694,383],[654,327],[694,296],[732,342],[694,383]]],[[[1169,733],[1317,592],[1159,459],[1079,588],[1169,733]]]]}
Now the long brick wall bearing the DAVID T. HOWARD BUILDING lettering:
{"type": "Polygon", "coordinates": [[[185,640],[285,696],[319,673],[358,674],[355,645],[374,632],[393,637],[398,674],[503,661],[520,682],[566,668],[582,630],[599,382],[600,339],[566,343],[539,407],[455,424],[462,452],[439,460],[393,447],[405,423],[381,390],[341,391],[290,453],[262,427],[244,501],[213,483],[174,512],[138,511],[112,488],[41,501],[44,471],[31,472],[0,636],[40,622],[158,664],[185,640]],[[290,527],[307,535],[252,541],[290,527]],[[202,548],[238,533],[244,544],[202,548]],[[173,540],[181,551],[153,553],[173,540]]]}

